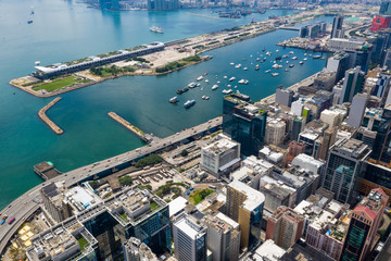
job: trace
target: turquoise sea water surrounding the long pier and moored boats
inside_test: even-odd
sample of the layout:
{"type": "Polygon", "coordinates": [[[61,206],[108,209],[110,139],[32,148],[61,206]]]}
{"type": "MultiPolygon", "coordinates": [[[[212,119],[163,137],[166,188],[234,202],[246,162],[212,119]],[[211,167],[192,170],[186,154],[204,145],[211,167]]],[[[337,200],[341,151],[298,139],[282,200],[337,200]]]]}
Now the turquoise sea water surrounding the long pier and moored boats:
{"type": "MultiPolygon", "coordinates": [[[[71,0],[0,1],[0,209],[41,182],[33,172],[36,163],[49,160],[60,171],[66,172],[142,146],[136,136],[106,115],[110,111],[146,132],[164,137],[222,114],[222,90],[228,84],[224,75],[249,79],[249,85],[238,85],[238,89],[256,100],[273,94],[278,85],[294,84],[325,65],[324,60],[308,59],[299,66],[298,60],[292,70],[280,70],[279,76],[272,77],[264,73],[273,65],[268,59],[255,72],[255,58],[262,53],[263,47],[273,52],[279,49],[280,54],[290,51],[275,44],[298,33],[277,30],[205,53],[214,59],[168,75],[122,77],[61,95],[63,99],[48,111],[49,117],[65,132],[56,136],[37,115],[53,98],[36,98],[8,84],[12,78],[29,74],[35,61],[41,61],[42,65],[71,61],[293,12],[269,10],[241,20],[213,20],[189,14],[216,16],[211,14],[211,10],[115,12],[87,9],[85,4],[71,0]],[[31,9],[34,23],[28,25],[31,9]],[[151,33],[148,28],[153,25],[163,27],[164,34],[151,33]],[[243,58],[248,60],[243,61],[243,58]],[[230,62],[241,63],[249,71],[235,69],[230,62]],[[180,96],[177,105],[168,103],[178,88],[194,82],[204,72],[209,72],[209,84],[203,83],[203,88],[180,96]],[[217,80],[222,82],[220,87],[212,91],[211,87],[217,80]],[[203,95],[211,96],[211,100],[202,100],[203,95]],[[187,99],[197,100],[190,110],[182,108],[187,99]]],[[[331,21],[330,17],[320,20],[331,21]]],[[[293,51],[303,58],[304,51],[293,51]]]]}

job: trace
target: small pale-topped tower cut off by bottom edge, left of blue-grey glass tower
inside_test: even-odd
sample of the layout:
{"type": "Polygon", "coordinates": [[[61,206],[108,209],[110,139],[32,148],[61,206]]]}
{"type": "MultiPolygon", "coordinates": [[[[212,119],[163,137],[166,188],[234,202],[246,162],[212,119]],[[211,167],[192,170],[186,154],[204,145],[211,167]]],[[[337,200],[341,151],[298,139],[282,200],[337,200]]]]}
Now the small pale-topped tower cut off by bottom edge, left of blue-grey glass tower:
{"type": "Polygon", "coordinates": [[[130,237],[124,244],[125,261],[159,261],[156,254],[140,239],[130,237]]]}

